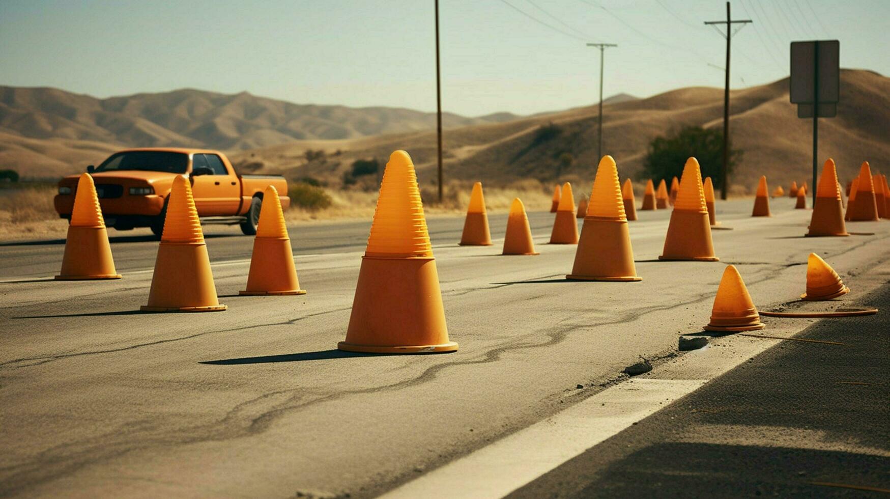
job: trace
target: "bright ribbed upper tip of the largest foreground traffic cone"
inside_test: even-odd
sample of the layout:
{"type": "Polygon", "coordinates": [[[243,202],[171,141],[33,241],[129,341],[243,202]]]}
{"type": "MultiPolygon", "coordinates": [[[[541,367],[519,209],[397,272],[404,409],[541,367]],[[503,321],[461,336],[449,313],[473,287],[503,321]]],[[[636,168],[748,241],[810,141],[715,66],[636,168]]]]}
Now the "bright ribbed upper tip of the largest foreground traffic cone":
{"type": "Polygon", "coordinates": [[[395,151],[386,163],[365,256],[433,257],[417,175],[408,152],[395,151]]]}

